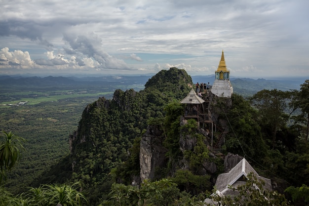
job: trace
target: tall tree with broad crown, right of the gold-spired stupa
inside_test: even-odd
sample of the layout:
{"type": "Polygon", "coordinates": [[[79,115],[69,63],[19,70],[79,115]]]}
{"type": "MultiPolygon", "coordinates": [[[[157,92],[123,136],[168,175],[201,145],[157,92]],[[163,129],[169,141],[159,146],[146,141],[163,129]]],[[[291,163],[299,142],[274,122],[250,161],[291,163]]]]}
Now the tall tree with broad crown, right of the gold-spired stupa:
{"type": "Polygon", "coordinates": [[[260,124],[270,129],[271,147],[275,147],[276,134],[281,126],[286,125],[289,116],[285,112],[291,92],[277,89],[263,89],[251,97],[253,106],[259,111],[260,124]]]}

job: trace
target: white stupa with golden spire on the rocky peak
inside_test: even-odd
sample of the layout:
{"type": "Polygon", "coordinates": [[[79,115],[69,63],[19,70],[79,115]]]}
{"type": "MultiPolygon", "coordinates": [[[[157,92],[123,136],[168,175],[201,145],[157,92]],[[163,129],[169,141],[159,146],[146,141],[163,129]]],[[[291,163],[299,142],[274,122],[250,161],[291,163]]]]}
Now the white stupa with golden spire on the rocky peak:
{"type": "Polygon", "coordinates": [[[231,98],[233,93],[233,87],[230,82],[230,71],[227,70],[223,50],[218,69],[215,72],[215,81],[211,87],[211,93],[219,97],[228,98],[231,98]]]}

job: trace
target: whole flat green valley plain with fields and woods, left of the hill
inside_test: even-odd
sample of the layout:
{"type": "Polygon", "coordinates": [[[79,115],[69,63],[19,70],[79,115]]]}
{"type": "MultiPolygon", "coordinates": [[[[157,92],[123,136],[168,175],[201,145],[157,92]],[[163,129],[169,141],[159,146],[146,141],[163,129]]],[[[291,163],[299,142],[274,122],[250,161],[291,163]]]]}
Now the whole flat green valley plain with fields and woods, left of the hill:
{"type": "MultiPolygon", "coordinates": [[[[69,154],[69,134],[77,129],[87,104],[102,96],[110,99],[115,89],[125,90],[128,86],[1,86],[0,130],[12,131],[27,140],[21,159],[8,173],[5,187],[18,194],[32,186],[42,172],[69,154]]],[[[136,90],[143,87],[135,85],[136,90]]]]}

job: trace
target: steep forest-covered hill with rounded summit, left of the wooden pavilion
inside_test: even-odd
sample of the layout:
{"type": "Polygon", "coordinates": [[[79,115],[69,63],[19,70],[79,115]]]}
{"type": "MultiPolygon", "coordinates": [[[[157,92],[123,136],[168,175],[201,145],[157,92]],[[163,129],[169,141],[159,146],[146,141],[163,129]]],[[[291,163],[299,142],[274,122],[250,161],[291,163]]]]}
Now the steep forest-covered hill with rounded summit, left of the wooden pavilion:
{"type": "Polygon", "coordinates": [[[190,92],[188,84],[193,82],[185,70],[170,68],[152,77],[144,90],[118,89],[113,99],[102,97],[89,104],[77,131],[70,136],[71,156],[40,177],[37,184],[81,181],[83,189],[92,194],[92,201],[106,199],[115,181],[111,170],[123,165],[128,153],[134,153],[130,156],[130,173],[139,175],[139,150],[134,148],[139,148],[148,121],[163,118],[168,103],[179,102],[190,92]]]}

